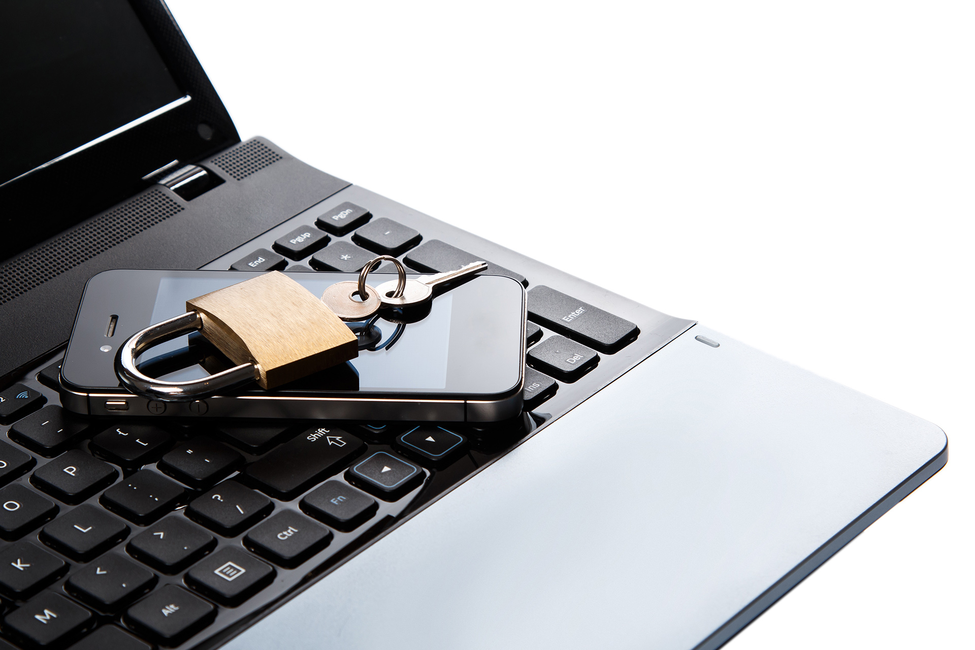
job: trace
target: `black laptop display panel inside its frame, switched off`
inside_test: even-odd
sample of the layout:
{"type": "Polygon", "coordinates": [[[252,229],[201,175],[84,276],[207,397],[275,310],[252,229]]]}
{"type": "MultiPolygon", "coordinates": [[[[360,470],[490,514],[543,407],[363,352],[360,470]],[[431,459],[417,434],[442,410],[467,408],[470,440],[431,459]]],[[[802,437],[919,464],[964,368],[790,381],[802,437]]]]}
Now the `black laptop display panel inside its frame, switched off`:
{"type": "Polygon", "coordinates": [[[188,100],[126,0],[0,3],[0,89],[0,184],[188,100]]]}

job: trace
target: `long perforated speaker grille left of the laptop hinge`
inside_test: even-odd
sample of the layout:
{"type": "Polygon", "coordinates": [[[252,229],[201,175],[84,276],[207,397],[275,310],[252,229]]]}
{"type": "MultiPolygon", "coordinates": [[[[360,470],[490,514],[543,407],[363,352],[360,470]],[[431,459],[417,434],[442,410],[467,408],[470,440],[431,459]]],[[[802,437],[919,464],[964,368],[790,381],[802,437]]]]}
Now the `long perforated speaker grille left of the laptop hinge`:
{"type": "Polygon", "coordinates": [[[0,267],[0,305],[132,239],[183,207],[152,190],[0,267]]]}

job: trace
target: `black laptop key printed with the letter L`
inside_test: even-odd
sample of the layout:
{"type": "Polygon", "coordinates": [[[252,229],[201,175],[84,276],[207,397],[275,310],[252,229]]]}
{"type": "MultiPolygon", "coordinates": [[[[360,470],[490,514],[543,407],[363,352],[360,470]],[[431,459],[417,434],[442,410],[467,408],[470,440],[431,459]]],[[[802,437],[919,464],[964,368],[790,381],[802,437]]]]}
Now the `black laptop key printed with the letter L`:
{"type": "Polygon", "coordinates": [[[90,504],[44,526],[40,540],[72,559],[86,561],[107,551],[129,535],[129,526],[90,504]]]}

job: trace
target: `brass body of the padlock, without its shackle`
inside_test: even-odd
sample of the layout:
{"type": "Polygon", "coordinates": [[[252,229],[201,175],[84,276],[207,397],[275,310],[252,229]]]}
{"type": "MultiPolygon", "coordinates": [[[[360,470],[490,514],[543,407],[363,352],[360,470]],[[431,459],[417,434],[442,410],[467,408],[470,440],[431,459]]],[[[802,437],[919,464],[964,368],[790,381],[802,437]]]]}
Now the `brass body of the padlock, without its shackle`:
{"type": "Polygon", "coordinates": [[[262,388],[359,356],[355,334],[311,291],[272,271],[186,301],[201,333],[234,363],[257,363],[262,388]]]}

